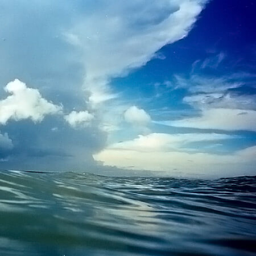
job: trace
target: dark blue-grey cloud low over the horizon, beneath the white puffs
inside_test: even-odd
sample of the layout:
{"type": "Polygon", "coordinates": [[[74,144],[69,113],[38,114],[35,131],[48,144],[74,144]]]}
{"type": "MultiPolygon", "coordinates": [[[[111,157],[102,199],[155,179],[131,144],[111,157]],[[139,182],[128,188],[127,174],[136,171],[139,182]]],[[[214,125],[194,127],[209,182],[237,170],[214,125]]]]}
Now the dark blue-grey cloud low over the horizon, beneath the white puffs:
{"type": "Polygon", "coordinates": [[[105,134],[95,126],[74,130],[61,117],[9,122],[3,131],[13,138],[14,147],[5,150],[9,161],[0,163],[1,168],[83,171],[95,164],[92,154],[105,146],[105,134]]]}

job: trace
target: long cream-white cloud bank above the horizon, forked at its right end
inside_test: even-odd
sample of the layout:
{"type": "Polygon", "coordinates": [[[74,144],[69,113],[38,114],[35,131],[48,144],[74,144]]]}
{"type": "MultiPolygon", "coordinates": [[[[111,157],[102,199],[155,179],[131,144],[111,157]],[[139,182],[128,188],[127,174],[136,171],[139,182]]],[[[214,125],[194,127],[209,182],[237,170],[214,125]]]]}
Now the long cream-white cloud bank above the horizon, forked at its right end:
{"type": "Polygon", "coordinates": [[[256,147],[233,154],[217,155],[187,151],[184,144],[195,141],[232,139],[224,134],[150,134],[132,141],[115,143],[94,155],[108,166],[128,170],[164,171],[166,175],[221,177],[253,175],[256,147]],[[232,166],[232,168],[230,168],[232,166]]]}

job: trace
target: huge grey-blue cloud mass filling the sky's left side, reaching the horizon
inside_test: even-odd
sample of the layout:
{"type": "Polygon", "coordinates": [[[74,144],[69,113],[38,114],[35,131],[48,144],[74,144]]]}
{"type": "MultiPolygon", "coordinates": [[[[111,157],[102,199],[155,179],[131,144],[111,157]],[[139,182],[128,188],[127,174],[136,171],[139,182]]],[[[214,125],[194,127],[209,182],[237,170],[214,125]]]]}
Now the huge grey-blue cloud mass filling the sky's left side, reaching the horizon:
{"type": "MultiPolygon", "coordinates": [[[[3,3],[0,28],[6,40],[0,40],[0,82],[6,84],[15,75],[36,84],[38,90],[26,86],[26,100],[35,96],[37,103],[12,101],[15,111],[9,109],[5,119],[0,119],[4,131],[15,138],[14,155],[1,168],[92,170],[92,154],[106,146],[102,129],[119,130],[130,105],[123,104],[125,99],[112,88],[112,79],[142,67],[164,45],[184,38],[205,3],[121,0],[117,5],[113,0],[46,0],[34,5],[16,1],[15,9],[13,3],[3,3]],[[65,119],[53,115],[63,117],[60,102],[65,113],[82,109],[97,122],[86,122],[88,115],[75,112],[71,123],[83,129],[74,130],[65,120],[70,114],[65,119]],[[38,153],[32,154],[35,148],[38,153]]],[[[1,104],[16,97],[11,92],[1,104]]]]}

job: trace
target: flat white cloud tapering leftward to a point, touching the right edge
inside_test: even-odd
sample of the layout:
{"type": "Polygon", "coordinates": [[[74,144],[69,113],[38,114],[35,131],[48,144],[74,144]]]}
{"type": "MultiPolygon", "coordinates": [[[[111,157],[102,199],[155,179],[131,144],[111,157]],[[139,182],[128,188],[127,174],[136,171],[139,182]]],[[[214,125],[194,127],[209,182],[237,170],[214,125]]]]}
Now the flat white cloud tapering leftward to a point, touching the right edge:
{"type": "Polygon", "coordinates": [[[203,109],[200,117],[159,122],[176,127],[256,131],[256,111],[241,109],[203,109]]]}

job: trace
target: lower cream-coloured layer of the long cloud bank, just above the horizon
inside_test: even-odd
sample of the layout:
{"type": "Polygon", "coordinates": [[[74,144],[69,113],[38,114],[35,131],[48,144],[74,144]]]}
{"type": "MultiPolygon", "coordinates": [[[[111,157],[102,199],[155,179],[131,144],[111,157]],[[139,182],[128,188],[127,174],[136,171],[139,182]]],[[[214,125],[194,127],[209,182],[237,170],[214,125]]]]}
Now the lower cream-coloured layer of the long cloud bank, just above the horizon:
{"type": "Polygon", "coordinates": [[[129,170],[164,171],[167,175],[179,171],[189,174],[212,176],[255,174],[256,147],[249,147],[230,155],[214,155],[202,152],[138,151],[135,149],[107,148],[94,159],[105,165],[129,170]],[[129,167],[129,168],[128,168],[129,167]],[[173,171],[175,170],[175,171],[173,171]]]}

